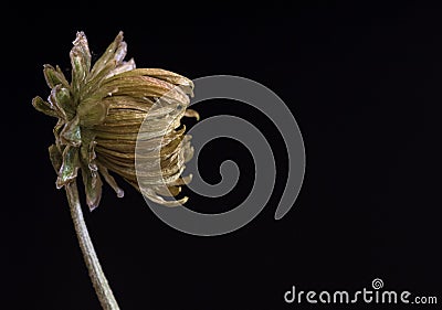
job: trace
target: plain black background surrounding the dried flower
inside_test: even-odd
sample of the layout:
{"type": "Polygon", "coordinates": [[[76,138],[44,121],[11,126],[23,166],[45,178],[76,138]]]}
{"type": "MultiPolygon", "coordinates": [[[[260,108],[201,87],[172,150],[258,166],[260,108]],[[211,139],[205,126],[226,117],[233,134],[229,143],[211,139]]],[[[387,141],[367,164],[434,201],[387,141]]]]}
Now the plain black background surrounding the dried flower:
{"type": "MultiPolygon", "coordinates": [[[[243,228],[197,237],[164,224],[129,185],[122,184],[120,200],[105,188],[101,206],[84,209],[85,220],[122,309],[301,309],[308,307],[283,300],[292,285],[355,291],[375,278],[385,289],[441,298],[439,8],[65,4],[3,11],[11,22],[2,26],[1,47],[7,306],[0,308],[99,309],[64,191],[54,185],[46,151],[53,119],[31,106],[34,96],[49,95],[43,64],[69,72],[78,30],[95,57],[123,30],[138,67],[189,78],[239,75],[267,86],[290,106],[306,148],[299,196],[275,221],[287,165],[275,128],[234,101],[198,104],[203,118],[236,115],[262,129],[278,168],[274,194],[243,228]]],[[[253,165],[238,143],[213,142],[200,169],[219,181],[225,158],[242,168],[239,188],[215,202],[189,193],[189,207],[225,211],[246,196],[253,165]]],[[[352,309],[362,306],[379,308],[352,309]]]]}

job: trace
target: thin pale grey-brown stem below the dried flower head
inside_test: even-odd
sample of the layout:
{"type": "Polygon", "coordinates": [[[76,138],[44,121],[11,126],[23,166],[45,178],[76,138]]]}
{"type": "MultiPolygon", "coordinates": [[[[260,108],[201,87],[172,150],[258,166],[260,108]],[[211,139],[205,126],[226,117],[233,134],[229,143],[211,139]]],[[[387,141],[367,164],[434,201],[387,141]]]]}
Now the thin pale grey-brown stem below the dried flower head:
{"type": "Polygon", "coordinates": [[[98,300],[105,310],[118,310],[119,307],[112,289],[99,265],[98,257],[95,253],[94,245],[92,244],[90,234],[87,232],[86,223],[84,222],[82,206],[78,200],[78,189],[76,182],[70,182],[65,185],[67,200],[71,209],[72,221],[74,222],[75,233],[78,238],[80,247],[83,253],[84,261],[86,263],[87,270],[98,300]]]}

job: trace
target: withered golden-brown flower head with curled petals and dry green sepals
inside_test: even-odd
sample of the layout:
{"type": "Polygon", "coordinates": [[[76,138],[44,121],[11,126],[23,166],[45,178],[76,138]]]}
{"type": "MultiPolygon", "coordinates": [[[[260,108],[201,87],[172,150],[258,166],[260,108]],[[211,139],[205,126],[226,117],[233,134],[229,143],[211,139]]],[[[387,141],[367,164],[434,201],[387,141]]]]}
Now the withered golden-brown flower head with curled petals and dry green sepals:
{"type": "Polygon", "coordinates": [[[93,210],[102,196],[102,178],[119,197],[124,195],[109,173],[114,172],[156,203],[185,203],[187,197],[162,196],[178,195],[180,185],[190,181],[181,173],[193,149],[180,120],[183,116],[199,117],[187,109],[193,83],[169,71],[136,68],[134,60],[124,61],[127,44],[123,32],[93,66],[83,32],[77,33],[73,45],[71,83],[59,66],[45,65],[43,73],[51,94],[48,101],[41,97],[32,100],[39,111],[57,118],[55,143],[49,148],[57,173],[56,186],[74,182],[81,171],[86,202],[93,210]],[[151,126],[143,126],[144,131],[139,132],[141,124],[149,124],[149,119],[151,126]],[[144,169],[143,186],[135,169],[139,137],[148,148],[137,156],[147,163],[149,158],[157,160],[160,167],[158,171],[150,171],[148,165],[144,169]]]}

